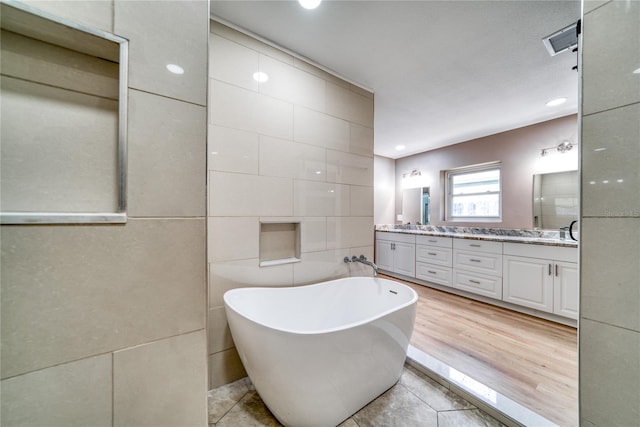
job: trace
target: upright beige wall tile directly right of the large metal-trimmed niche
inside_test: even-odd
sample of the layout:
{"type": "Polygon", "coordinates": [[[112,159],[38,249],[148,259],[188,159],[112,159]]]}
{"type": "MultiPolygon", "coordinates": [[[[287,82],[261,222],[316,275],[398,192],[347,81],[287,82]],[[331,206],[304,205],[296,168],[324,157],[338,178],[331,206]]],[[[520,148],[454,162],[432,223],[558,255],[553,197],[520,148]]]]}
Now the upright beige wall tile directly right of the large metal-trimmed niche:
{"type": "Polygon", "coordinates": [[[129,215],[206,215],[206,116],[205,107],[129,92],[129,215]]]}

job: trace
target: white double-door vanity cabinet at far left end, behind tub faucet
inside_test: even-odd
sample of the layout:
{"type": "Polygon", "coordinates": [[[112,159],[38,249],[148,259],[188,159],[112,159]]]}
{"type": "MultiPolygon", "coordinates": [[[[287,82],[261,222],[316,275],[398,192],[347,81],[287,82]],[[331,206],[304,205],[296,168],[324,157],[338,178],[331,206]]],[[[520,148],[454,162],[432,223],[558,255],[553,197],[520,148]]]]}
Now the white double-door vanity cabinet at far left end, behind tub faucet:
{"type": "Polygon", "coordinates": [[[376,231],[375,262],[381,270],[415,277],[416,236],[376,231]]]}

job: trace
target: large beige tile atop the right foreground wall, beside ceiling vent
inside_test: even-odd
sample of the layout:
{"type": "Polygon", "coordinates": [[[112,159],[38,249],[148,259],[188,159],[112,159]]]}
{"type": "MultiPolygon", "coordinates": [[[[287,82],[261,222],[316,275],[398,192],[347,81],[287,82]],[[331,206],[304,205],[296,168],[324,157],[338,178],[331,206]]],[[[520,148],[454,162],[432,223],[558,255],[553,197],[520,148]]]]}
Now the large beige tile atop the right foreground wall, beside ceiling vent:
{"type": "Polygon", "coordinates": [[[634,73],[640,64],[638,22],[637,1],[613,1],[584,16],[583,115],[640,102],[640,78],[634,73]]]}

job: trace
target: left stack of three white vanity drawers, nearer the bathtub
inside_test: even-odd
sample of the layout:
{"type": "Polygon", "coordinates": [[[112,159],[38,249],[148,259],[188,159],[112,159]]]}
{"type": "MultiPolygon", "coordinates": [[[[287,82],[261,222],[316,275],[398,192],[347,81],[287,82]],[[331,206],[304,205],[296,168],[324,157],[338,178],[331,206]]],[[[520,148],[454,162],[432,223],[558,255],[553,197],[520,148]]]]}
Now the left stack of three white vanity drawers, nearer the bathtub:
{"type": "Polygon", "coordinates": [[[416,278],[451,286],[453,239],[416,236],[416,278]]]}

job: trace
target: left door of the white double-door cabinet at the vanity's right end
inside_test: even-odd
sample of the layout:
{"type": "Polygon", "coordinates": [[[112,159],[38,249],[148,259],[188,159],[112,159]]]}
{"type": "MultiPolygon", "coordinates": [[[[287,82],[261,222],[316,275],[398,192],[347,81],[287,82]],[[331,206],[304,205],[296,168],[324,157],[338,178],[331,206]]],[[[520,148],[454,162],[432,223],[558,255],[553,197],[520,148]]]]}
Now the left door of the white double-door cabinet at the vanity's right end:
{"type": "Polygon", "coordinates": [[[502,299],[553,313],[553,261],[504,256],[502,299]]]}

